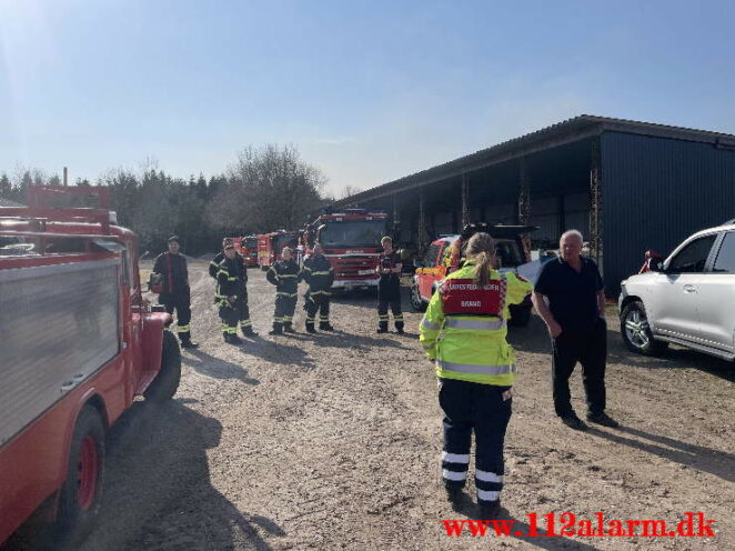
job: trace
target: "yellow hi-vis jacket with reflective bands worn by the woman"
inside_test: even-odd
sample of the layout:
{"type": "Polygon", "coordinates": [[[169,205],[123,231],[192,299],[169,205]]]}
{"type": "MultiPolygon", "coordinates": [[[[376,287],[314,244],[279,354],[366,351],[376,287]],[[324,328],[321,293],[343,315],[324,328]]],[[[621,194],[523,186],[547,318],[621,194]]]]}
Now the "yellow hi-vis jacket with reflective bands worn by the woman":
{"type": "MultiPolygon", "coordinates": [[[[473,279],[474,269],[474,261],[467,261],[444,281],[473,279]]],[[[533,284],[511,272],[501,278],[497,270],[491,270],[490,278],[501,281],[504,289],[500,317],[444,314],[441,285],[431,298],[421,321],[420,341],[429,359],[435,361],[437,377],[499,387],[515,382],[515,353],[505,340],[509,305],[523,302],[533,284]]]]}

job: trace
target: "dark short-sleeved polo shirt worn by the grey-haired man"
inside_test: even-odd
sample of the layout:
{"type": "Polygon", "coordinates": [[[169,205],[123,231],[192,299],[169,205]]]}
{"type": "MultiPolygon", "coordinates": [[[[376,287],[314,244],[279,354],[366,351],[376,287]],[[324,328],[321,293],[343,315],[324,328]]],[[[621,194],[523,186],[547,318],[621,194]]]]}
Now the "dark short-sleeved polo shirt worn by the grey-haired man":
{"type": "Polygon", "coordinates": [[[600,317],[597,291],[603,287],[593,260],[582,257],[577,272],[560,257],[541,268],[534,291],[548,298],[548,309],[563,331],[591,333],[600,317]]]}

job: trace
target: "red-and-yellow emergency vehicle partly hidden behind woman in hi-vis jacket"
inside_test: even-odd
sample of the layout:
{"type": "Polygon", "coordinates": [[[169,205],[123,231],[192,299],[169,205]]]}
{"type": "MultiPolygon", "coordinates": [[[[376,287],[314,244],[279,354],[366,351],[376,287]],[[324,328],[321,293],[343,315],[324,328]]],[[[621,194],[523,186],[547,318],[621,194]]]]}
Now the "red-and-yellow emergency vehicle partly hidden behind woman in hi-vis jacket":
{"type": "MultiPolygon", "coordinates": [[[[523,236],[535,230],[528,226],[492,226],[486,223],[467,224],[462,234],[444,236],[433,241],[422,261],[416,262],[416,271],[411,285],[411,305],[424,311],[434,291],[446,276],[456,270],[464,258],[467,240],[477,231],[486,231],[495,239],[497,269],[502,272],[515,271],[531,261],[531,253],[523,236]]],[[[531,295],[522,304],[511,305],[510,325],[523,327],[531,320],[531,295]]]]}

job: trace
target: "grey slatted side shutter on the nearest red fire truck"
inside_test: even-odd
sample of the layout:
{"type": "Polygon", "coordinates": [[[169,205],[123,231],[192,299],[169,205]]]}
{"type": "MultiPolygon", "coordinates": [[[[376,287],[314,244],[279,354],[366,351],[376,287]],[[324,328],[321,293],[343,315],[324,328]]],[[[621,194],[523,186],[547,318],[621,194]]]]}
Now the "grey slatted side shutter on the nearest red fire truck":
{"type": "Polygon", "coordinates": [[[119,353],[119,264],[0,271],[0,445],[119,353]]]}

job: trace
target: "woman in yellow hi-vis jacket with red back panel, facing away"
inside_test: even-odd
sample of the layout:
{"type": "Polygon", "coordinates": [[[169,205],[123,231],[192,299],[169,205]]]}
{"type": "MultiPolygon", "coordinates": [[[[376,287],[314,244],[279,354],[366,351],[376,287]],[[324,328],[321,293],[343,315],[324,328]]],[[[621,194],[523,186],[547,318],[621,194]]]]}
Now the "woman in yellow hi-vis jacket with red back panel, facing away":
{"type": "Polygon", "coordinates": [[[515,354],[506,342],[510,304],[518,304],[532,284],[501,274],[495,243],[475,233],[467,260],[434,293],[420,325],[420,341],[435,363],[439,403],[444,411],[442,479],[450,501],[461,499],[475,435],[475,487],[483,519],[500,509],[503,443],[511,419],[515,354]]]}

